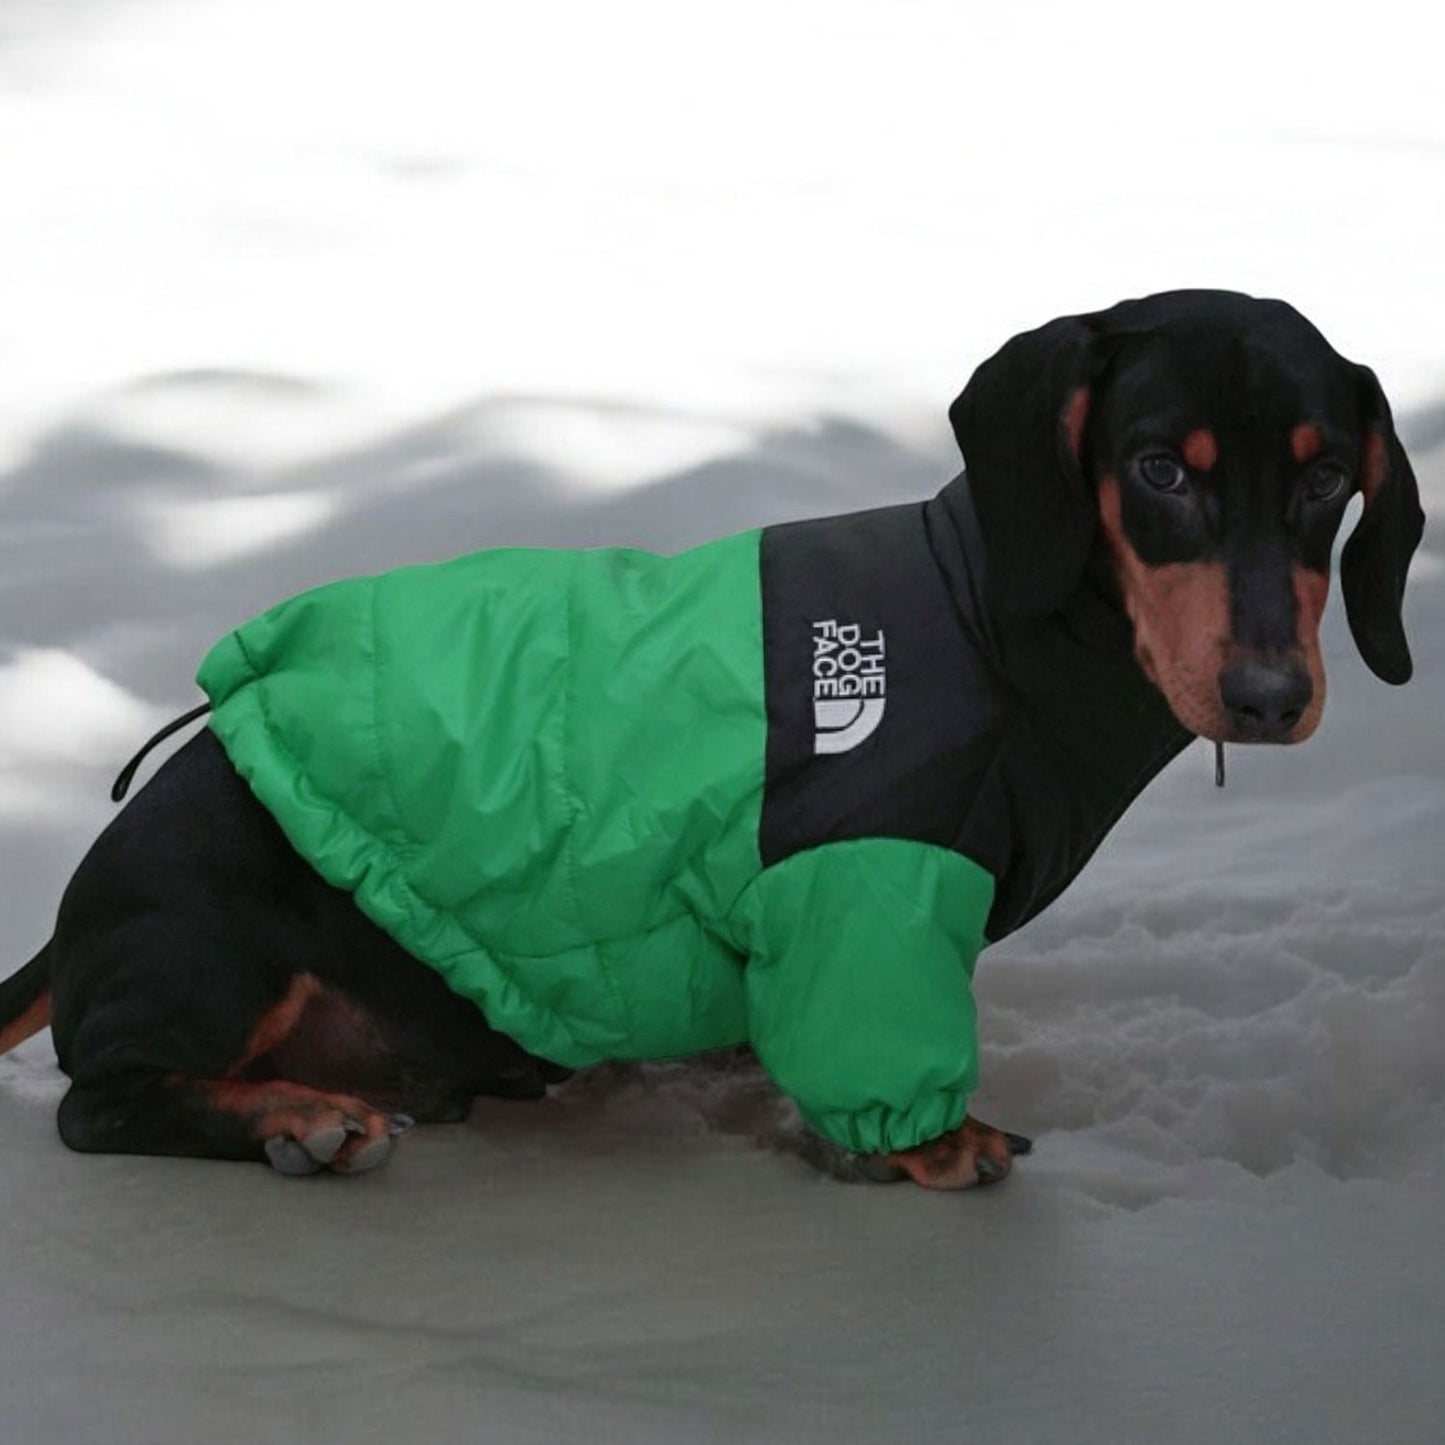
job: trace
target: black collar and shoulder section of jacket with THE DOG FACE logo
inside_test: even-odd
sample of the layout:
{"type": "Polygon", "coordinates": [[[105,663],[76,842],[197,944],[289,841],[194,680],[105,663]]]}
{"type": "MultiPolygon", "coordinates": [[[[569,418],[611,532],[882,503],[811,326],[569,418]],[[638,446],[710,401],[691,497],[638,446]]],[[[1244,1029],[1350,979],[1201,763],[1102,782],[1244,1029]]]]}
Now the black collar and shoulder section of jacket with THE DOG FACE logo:
{"type": "Polygon", "coordinates": [[[763,532],[759,847],[764,864],[866,837],[952,848],[994,876],[997,941],[1189,734],[1087,584],[1052,617],[998,623],[985,569],[964,477],[926,503],[763,532]]]}

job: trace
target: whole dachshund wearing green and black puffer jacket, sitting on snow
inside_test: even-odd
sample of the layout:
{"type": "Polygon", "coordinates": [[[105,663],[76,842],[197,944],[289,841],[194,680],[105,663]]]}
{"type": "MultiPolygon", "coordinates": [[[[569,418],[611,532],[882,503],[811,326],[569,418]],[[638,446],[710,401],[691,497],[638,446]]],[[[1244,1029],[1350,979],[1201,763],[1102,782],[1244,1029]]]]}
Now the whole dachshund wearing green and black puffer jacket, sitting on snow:
{"type": "MultiPolygon", "coordinates": [[[[526,828],[509,838],[512,825],[490,803],[473,806],[449,775],[441,785],[461,799],[452,812],[477,814],[481,853],[555,855],[568,890],[595,890],[579,916],[595,920],[614,894],[708,894],[646,913],[666,928],[629,925],[669,949],[668,929],[701,939],[701,962],[675,971],[688,1007],[711,1010],[705,1026],[649,1023],[627,1038],[611,1014],[598,1022],[610,1003],[558,1022],[546,1012],[552,983],[545,1000],[517,1003],[513,984],[543,949],[523,941],[506,952],[512,920],[532,909],[533,935],[555,923],[572,938],[551,903],[533,906],[532,892],[552,896],[540,876],[535,890],[507,893],[506,926],[487,925],[474,967],[454,944],[429,957],[442,925],[428,932],[413,916],[422,883],[407,874],[410,892],[396,894],[394,879],[377,883],[376,858],[338,861],[277,798],[360,766],[345,751],[350,702],[318,692],[296,704],[295,728],[309,731],[288,746],[325,757],[301,780],[266,783],[262,725],[240,714],[257,712],[246,699],[267,686],[259,711],[280,707],[290,655],[266,673],[253,624],[227,653],[246,653],[246,676],[208,685],[221,670],[208,660],[211,725],[103,832],[52,939],[0,985],[0,1052],[53,1027],[72,1081],[62,1140],[360,1173],[384,1163],[413,1121],[462,1118],[475,1095],[536,1098],[607,1058],[751,1043],[834,1173],[929,1188],[1001,1179],[1027,1140],[967,1114],[974,954],[1046,906],[1191,738],[1292,744],[1315,731],[1331,546],[1354,494],[1363,510],[1341,558],[1350,629],[1379,678],[1406,682],[1402,601],[1423,516],[1374,374],[1279,301],[1182,290],[1052,321],[980,366],[949,419],[965,471],[923,503],[766,527],[666,565],[588,553],[585,574],[551,568],[574,588],[591,579],[592,605],[568,604],[574,630],[607,608],[633,629],[626,646],[595,643],[613,647],[597,655],[605,666],[578,642],[558,696],[595,720],[585,730],[598,738],[597,786],[633,809],[623,832],[655,834],[673,874],[652,854],[617,854],[616,832],[605,835],[616,871],[587,874],[608,850],[585,828],[611,802],[578,795],[555,838],[529,841],[526,828]],[[621,688],[597,678],[626,668],[637,639],[668,631],[669,608],[683,605],[699,608],[678,614],[691,640],[672,659],[646,655],[627,675],[640,701],[620,702],[621,688]],[[756,696],[724,696],[704,676],[728,649],[756,696]],[[595,696],[574,695],[584,675],[595,696]],[[666,712],[666,728],[653,712],[666,712]],[[727,756],[743,760],[728,764],[741,780],[728,773],[725,805],[722,782],[698,762],[722,720],[734,728],[727,756]]],[[[540,558],[555,555],[499,556],[475,553],[475,571],[447,577],[486,592],[496,656],[546,653],[552,634],[525,631],[526,608],[501,582],[516,572],[527,597],[553,585],[540,558]]],[[[376,595],[402,585],[383,578],[376,595]]],[[[351,607],[355,594],[335,595],[351,607]]],[[[311,623],[295,618],[315,611],[277,616],[267,639],[298,634],[311,623]]],[[[318,646],[334,656],[335,634],[318,646]]],[[[400,629],[399,653],[436,646],[415,621],[400,629]]],[[[523,691],[533,682],[527,673],[523,691]]],[[[394,705],[412,715],[405,698],[394,705]]],[[[553,727],[549,705],[536,702],[539,737],[553,727]]],[[[470,750],[452,749],[455,767],[470,777],[473,754],[504,751],[497,766],[510,769],[519,806],[539,815],[546,764],[487,707],[470,750]]],[[[396,766],[435,770],[445,747],[405,731],[396,766]]],[[[407,847],[422,851],[409,827],[407,847]]],[[[532,877],[517,868],[478,864],[473,892],[501,896],[507,879],[532,877]]],[[[481,925],[462,923],[474,941],[481,925]]],[[[578,944],[578,958],[605,961],[614,942],[578,944]]],[[[659,964],[646,987],[666,977],[659,964]]],[[[639,1000],[621,1012],[644,1013],[639,1000]]]]}

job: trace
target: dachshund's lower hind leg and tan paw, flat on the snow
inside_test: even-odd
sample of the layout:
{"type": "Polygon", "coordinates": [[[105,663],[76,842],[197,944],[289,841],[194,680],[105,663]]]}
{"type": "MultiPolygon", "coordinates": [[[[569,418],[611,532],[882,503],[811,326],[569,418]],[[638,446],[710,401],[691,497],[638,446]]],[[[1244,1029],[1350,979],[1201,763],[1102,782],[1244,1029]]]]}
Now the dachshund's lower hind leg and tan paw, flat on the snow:
{"type": "Polygon", "coordinates": [[[150,1072],[75,1084],[59,1111],[61,1139],[85,1153],[243,1159],[285,1175],[377,1169],[410,1124],[361,1098],[286,1079],[150,1072]]]}

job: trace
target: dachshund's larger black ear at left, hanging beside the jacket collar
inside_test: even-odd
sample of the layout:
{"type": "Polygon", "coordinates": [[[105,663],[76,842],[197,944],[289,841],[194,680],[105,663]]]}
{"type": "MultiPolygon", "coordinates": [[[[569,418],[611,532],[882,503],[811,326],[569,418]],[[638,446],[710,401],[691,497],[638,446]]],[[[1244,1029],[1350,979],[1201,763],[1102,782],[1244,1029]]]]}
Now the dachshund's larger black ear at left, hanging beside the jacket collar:
{"type": "Polygon", "coordinates": [[[1088,562],[1095,507],[1079,452],[1103,367],[1094,319],[1014,337],[948,409],[988,548],[988,598],[1007,616],[1058,611],[1088,562]]]}

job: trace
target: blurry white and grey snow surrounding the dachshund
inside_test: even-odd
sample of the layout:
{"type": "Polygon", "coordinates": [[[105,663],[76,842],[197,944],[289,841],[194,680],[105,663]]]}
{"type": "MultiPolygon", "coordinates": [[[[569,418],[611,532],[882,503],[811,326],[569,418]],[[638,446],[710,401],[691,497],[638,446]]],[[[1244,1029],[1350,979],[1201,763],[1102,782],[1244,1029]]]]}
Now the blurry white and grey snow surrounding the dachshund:
{"type": "Polygon", "coordinates": [[[66,1153],[0,1061],[0,1439],[1435,1445],[1445,1418],[1445,104],[1416,4],[0,0],[0,942],[218,633],[494,542],[920,497],[1016,331],[1181,285],[1377,368],[1416,681],[1331,614],[985,955],[1001,1189],[584,1079],[389,1170],[66,1153]]]}

